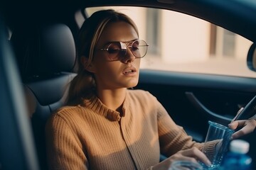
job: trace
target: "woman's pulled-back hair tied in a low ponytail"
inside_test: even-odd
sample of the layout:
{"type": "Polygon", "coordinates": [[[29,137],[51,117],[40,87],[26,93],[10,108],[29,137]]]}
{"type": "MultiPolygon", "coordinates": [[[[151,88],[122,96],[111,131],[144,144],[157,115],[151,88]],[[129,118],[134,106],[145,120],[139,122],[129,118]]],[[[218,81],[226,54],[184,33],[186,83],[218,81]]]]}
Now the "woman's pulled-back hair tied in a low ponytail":
{"type": "Polygon", "coordinates": [[[82,98],[90,98],[92,95],[95,95],[96,84],[94,74],[85,69],[86,66],[82,64],[81,57],[86,57],[87,66],[90,65],[93,60],[95,46],[102,35],[102,31],[109,23],[119,21],[129,23],[137,32],[137,35],[139,35],[137,26],[131,18],[124,13],[119,13],[112,9],[97,11],[82,24],[76,41],[78,74],[70,82],[67,98],[68,104],[77,104],[80,103],[82,98]]]}

